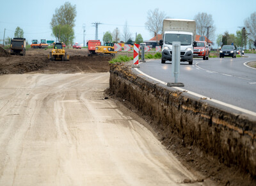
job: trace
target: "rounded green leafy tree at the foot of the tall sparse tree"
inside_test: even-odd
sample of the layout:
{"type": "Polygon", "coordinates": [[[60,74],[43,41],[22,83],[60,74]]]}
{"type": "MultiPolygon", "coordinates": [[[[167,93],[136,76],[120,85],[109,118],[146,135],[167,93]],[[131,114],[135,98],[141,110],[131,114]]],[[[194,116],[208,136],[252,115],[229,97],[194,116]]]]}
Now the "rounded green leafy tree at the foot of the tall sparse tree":
{"type": "Polygon", "coordinates": [[[67,46],[72,44],[75,38],[74,29],[67,24],[54,26],[52,33],[57,36],[60,42],[64,42],[67,46]]]}

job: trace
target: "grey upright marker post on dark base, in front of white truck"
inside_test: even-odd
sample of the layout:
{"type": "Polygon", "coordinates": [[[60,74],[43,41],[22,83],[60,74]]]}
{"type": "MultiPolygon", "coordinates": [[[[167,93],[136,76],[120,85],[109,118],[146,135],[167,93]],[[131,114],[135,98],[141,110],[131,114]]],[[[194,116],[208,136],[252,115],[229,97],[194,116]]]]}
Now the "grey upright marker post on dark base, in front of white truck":
{"type": "Polygon", "coordinates": [[[178,82],[180,74],[180,42],[172,42],[172,77],[175,78],[174,83],[168,82],[167,86],[184,86],[182,82],[178,82]]]}

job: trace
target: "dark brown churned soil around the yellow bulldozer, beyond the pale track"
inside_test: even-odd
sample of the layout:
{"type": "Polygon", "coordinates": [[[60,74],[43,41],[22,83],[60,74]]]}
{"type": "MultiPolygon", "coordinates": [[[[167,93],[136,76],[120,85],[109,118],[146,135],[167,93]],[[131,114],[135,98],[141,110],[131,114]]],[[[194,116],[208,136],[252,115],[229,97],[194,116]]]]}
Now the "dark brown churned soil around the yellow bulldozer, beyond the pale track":
{"type": "Polygon", "coordinates": [[[70,74],[109,72],[111,56],[87,56],[87,51],[67,49],[70,61],[49,61],[47,54],[51,50],[31,49],[26,56],[0,57],[0,74],[70,74]]]}

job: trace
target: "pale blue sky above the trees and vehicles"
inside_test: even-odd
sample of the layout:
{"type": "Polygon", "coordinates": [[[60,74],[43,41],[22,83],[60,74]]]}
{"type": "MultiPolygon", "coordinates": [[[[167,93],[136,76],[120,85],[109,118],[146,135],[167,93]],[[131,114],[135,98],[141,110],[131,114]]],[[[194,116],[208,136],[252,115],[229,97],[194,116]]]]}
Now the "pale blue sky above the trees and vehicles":
{"type": "MultiPolygon", "coordinates": [[[[14,37],[17,26],[23,29],[24,38],[31,43],[32,40],[55,40],[52,36],[50,22],[56,8],[60,8],[66,1],[61,0],[0,0],[0,42],[3,37],[14,37]],[[5,36],[4,36],[4,29],[5,36]]],[[[104,33],[114,31],[118,27],[121,35],[127,22],[129,32],[134,40],[136,33],[141,34],[143,40],[150,40],[154,35],[146,27],[149,10],[159,8],[167,17],[173,19],[194,19],[198,13],[205,12],[212,15],[216,27],[215,39],[225,31],[236,35],[236,31],[244,26],[244,19],[256,12],[255,0],[204,0],[204,1],[173,1],[173,0],[147,0],[147,1],[88,1],[70,0],[76,4],[77,16],[74,27],[74,42],[83,43],[95,39],[95,26],[93,22],[100,22],[99,39],[102,41],[104,33]],[[83,39],[83,29],[85,38],[83,39]]],[[[121,37],[122,39],[122,37],[121,37]]]]}

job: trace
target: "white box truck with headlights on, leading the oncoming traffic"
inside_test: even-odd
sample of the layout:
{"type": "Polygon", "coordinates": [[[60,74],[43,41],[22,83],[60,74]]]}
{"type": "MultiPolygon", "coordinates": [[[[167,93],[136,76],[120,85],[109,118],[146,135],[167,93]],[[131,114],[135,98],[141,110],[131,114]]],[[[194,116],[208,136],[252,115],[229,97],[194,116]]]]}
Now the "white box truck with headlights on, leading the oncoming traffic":
{"type": "Polygon", "coordinates": [[[164,19],[161,63],[172,61],[172,42],[180,42],[180,61],[193,64],[193,47],[195,42],[196,22],[186,19],[164,19]]]}

